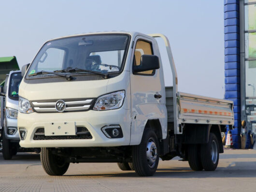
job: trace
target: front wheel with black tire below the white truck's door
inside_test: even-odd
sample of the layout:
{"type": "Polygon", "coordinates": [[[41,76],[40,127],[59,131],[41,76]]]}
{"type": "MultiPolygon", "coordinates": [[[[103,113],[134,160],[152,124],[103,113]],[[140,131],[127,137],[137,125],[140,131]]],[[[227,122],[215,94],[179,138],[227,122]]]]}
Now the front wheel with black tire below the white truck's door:
{"type": "Polygon", "coordinates": [[[139,176],[154,175],[159,162],[158,151],[159,143],[156,133],[148,128],[143,133],[141,144],[133,146],[132,149],[132,164],[139,176]]]}

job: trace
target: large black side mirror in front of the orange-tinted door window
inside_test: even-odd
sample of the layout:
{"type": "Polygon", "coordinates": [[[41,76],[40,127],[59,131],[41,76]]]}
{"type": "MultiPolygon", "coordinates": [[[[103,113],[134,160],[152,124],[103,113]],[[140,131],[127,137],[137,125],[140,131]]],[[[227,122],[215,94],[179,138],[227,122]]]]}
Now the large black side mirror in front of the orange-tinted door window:
{"type": "Polygon", "coordinates": [[[133,66],[133,72],[138,73],[147,70],[159,69],[159,59],[156,55],[142,55],[141,65],[133,66]]]}

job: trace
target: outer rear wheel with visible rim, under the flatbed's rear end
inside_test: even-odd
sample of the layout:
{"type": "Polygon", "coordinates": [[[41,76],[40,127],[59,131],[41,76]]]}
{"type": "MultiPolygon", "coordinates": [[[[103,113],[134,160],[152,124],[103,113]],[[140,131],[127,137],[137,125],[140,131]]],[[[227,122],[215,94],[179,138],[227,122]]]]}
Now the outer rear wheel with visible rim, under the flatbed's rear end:
{"type": "Polygon", "coordinates": [[[201,162],[205,171],[214,171],[219,163],[219,142],[215,134],[210,133],[209,142],[200,148],[201,162]]]}

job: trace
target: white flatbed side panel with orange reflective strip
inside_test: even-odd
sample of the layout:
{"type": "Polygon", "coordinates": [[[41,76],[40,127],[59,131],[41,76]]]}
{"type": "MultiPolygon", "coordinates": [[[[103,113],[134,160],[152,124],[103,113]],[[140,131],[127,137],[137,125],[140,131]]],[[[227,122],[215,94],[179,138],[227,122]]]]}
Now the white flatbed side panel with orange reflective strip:
{"type": "Polygon", "coordinates": [[[179,123],[234,124],[233,101],[178,93],[179,123]]]}

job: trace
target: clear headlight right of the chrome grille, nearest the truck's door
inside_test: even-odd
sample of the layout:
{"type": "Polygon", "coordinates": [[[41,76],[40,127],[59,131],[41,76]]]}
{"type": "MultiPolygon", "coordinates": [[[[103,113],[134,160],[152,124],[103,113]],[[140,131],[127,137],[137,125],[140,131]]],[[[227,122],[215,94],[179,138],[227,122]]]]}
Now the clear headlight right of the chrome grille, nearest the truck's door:
{"type": "Polygon", "coordinates": [[[104,96],[100,96],[93,110],[114,110],[122,107],[125,99],[125,91],[117,91],[104,96]]]}

